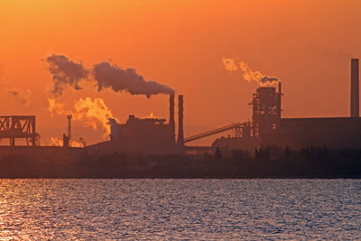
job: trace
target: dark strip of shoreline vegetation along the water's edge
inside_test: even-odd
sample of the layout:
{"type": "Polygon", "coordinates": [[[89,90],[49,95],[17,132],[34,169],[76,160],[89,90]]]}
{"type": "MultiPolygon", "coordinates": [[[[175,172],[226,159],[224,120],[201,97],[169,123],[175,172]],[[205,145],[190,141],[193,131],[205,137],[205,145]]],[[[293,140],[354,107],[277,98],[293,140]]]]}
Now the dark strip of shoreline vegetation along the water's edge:
{"type": "Polygon", "coordinates": [[[0,178],[174,178],[174,179],[361,179],[361,150],[306,148],[252,154],[234,150],[214,155],[124,153],[54,161],[12,154],[0,158],[0,178]],[[274,154],[276,153],[276,154],[274,154]]]}

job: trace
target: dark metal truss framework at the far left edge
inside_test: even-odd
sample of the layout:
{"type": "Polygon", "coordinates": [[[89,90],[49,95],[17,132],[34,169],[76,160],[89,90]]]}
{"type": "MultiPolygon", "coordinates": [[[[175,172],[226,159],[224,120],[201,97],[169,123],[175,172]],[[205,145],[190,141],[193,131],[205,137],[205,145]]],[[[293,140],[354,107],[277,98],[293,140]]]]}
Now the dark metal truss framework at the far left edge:
{"type": "Polygon", "coordinates": [[[15,145],[15,139],[25,138],[36,145],[35,116],[0,116],[0,139],[8,138],[10,145],[15,145]]]}

